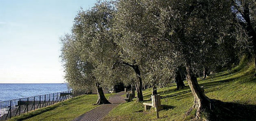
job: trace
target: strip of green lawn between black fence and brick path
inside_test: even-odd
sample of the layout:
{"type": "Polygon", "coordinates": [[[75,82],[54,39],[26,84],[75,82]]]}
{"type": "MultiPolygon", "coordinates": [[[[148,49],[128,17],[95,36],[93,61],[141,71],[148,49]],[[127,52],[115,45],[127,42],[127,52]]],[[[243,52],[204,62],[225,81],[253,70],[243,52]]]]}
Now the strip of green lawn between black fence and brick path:
{"type": "MultiPolygon", "coordinates": [[[[106,94],[105,96],[108,98],[111,95],[113,94],[106,94]]],[[[98,96],[95,94],[78,96],[52,106],[13,117],[8,121],[71,121],[97,107],[97,105],[92,105],[97,102],[97,99],[98,96]]]]}

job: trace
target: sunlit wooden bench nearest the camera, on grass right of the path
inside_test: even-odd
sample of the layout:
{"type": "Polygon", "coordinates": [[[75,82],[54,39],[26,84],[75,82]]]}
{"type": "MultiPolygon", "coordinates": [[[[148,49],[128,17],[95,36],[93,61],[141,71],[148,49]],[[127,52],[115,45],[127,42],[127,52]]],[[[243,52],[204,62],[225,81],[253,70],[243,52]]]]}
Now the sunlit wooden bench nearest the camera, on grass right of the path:
{"type": "Polygon", "coordinates": [[[152,95],[151,96],[152,102],[144,102],[143,105],[145,106],[145,110],[150,109],[150,107],[153,107],[156,109],[156,116],[159,118],[158,111],[163,109],[163,106],[161,105],[161,99],[160,95],[152,95]]]}

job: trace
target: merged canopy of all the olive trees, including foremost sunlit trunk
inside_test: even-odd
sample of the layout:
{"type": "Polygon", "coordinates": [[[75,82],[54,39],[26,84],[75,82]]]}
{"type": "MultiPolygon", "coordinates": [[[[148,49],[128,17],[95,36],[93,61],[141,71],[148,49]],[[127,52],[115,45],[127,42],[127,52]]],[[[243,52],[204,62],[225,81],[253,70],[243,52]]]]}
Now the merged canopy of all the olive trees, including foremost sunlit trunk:
{"type": "Polygon", "coordinates": [[[237,45],[255,56],[255,3],[98,1],[89,10],[81,9],[71,34],[61,38],[65,79],[73,90],[97,87],[99,95],[102,87],[133,84],[137,99],[143,101],[143,85],[152,86],[156,94],[158,87],[182,81],[185,75],[194,96],[191,111],[196,109],[195,119],[202,119],[202,112],[210,111],[208,105],[215,101],[199,87],[198,75],[206,78],[208,71],[232,67],[241,52],[237,45]]]}

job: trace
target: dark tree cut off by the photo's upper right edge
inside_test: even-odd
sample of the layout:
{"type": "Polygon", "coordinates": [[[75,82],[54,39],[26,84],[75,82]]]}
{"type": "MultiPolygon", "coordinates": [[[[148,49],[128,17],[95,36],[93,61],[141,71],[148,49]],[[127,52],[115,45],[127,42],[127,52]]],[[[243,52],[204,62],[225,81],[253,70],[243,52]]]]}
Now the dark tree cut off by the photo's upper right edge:
{"type": "Polygon", "coordinates": [[[231,10],[236,26],[236,38],[239,46],[247,52],[252,52],[255,60],[256,76],[256,1],[231,0],[231,10]]]}

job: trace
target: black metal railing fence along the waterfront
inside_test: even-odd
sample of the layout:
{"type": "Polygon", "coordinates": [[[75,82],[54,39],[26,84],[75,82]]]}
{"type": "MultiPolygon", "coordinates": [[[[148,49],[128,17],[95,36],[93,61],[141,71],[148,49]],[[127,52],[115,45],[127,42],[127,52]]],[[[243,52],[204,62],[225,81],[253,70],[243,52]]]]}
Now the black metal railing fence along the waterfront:
{"type": "Polygon", "coordinates": [[[28,113],[38,108],[46,107],[69,98],[80,96],[83,93],[73,91],[57,92],[28,98],[20,98],[0,102],[0,120],[11,118],[22,113],[28,113]]]}

